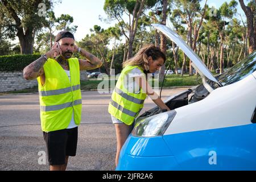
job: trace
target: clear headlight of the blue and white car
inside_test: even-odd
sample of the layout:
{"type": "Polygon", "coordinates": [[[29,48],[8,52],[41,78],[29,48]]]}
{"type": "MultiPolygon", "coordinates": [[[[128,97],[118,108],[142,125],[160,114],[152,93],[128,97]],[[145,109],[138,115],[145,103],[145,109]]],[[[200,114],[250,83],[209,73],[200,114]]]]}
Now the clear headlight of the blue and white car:
{"type": "Polygon", "coordinates": [[[163,135],[175,115],[176,111],[171,110],[137,121],[131,134],[135,137],[163,135]]]}

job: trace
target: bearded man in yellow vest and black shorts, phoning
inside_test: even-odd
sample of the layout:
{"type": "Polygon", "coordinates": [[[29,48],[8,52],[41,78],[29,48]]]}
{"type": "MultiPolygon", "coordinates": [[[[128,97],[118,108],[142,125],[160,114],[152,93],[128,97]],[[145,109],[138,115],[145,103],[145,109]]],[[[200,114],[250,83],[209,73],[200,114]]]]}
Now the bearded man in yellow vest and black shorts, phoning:
{"type": "Polygon", "coordinates": [[[76,155],[82,108],[80,71],[101,65],[100,59],[75,45],[71,32],[61,31],[52,49],[23,70],[26,80],[38,80],[41,127],[51,171],[65,171],[68,157],[76,155]],[[86,59],[72,57],[74,52],[86,59]]]}

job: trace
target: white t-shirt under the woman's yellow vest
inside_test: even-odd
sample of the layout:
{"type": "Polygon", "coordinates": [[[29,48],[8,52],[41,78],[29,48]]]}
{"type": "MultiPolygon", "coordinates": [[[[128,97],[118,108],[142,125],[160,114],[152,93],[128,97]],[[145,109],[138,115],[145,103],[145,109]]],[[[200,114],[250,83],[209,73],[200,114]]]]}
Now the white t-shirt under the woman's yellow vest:
{"type": "Polygon", "coordinates": [[[131,71],[128,73],[128,77],[126,80],[125,88],[130,93],[139,93],[139,85],[137,82],[135,82],[135,77],[143,76],[144,73],[139,68],[131,69],[131,71]]]}

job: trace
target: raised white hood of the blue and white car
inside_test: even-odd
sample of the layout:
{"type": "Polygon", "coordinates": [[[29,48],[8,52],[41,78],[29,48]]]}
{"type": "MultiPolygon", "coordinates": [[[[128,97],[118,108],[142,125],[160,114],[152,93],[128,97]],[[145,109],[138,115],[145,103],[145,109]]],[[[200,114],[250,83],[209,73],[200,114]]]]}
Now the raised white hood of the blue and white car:
{"type": "Polygon", "coordinates": [[[156,30],[166,35],[166,37],[172,42],[175,42],[175,44],[177,44],[177,46],[185,53],[185,55],[187,55],[189,59],[191,59],[192,67],[195,68],[196,71],[200,74],[203,84],[209,92],[212,92],[213,88],[207,83],[205,77],[207,77],[209,80],[216,82],[218,85],[221,85],[212,75],[212,73],[209,71],[209,69],[200,59],[200,57],[197,56],[197,54],[188,46],[187,43],[184,42],[184,40],[176,32],[172,31],[171,28],[164,26],[163,24],[152,24],[152,26],[154,26],[156,30]]]}

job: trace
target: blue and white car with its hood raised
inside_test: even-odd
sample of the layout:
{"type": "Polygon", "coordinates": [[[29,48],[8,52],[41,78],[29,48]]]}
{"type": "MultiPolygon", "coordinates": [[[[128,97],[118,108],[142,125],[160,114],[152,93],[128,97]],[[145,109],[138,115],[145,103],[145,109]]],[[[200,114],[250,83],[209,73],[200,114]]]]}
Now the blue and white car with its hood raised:
{"type": "Polygon", "coordinates": [[[214,77],[170,28],[153,25],[192,60],[203,84],[137,118],[117,170],[255,170],[256,51],[214,77]]]}

